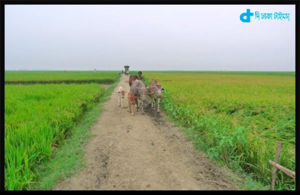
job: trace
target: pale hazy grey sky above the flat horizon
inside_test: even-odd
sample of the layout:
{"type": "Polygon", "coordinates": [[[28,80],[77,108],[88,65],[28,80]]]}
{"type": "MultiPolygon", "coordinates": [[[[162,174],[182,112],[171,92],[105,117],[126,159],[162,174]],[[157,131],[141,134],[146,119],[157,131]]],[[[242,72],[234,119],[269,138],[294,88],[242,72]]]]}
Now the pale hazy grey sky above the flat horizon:
{"type": "Polygon", "coordinates": [[[4,45],[5,70],[294,71],[295,5],[5,5],[4,45]]]}

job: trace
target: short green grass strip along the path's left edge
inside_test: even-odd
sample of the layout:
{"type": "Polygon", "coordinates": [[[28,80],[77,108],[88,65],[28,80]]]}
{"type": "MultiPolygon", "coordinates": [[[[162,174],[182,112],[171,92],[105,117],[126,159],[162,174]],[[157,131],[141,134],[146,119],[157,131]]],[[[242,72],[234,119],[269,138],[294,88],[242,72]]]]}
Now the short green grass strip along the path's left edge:
{"type": "Polygon", "coordinates": [[[89,130],[103,112],[102,104],[109,99],[118,81],[119,78],[108,88],[107,85],[105,86],[104,95],[82,117],[78,125],[72,130],[72,134],[56,149],[52,158],[36,167],[35,173],[38,177],[31,185],[30,190],[51,190],[57,182],[71,177],[84,167],[86,162],[82,158],[83,147],[91,137],[89,130]]]}

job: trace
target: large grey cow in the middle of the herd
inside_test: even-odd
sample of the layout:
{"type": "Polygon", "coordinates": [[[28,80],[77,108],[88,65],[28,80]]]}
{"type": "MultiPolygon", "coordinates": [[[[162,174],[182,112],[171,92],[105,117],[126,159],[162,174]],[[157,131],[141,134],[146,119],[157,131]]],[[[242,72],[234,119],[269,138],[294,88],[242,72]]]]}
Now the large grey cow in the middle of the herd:
{"type": "Polygon", "coordinates": [[[136,111],[138,111],[138,99],[141,100],[141,114],[144,114],[143,111],[143,103],[147,100],[146,98],[146,87],[143,82],[140,80],[135,79],[132,82],[130,87],[130,91],[134,93],[135,103],[136,103],[136,111]]]}

